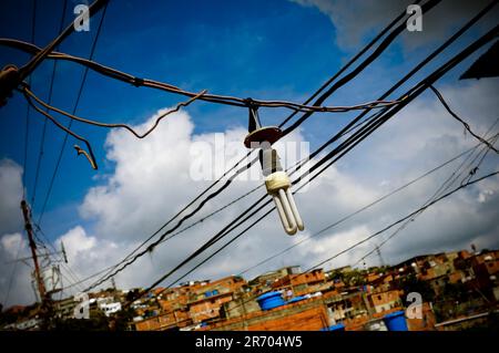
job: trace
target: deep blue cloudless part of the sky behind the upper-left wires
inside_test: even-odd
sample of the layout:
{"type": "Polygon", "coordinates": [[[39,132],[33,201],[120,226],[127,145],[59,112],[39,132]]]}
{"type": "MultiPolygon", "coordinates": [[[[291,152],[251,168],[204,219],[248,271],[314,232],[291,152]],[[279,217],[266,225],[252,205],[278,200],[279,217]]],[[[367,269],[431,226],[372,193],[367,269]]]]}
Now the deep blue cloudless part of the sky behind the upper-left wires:
{"type": "MultiPolygon", "coordinates": [[[[65,23],[73,18],[71,1],[65,23]]],[[[152,2],[151,2],[152,3],[152,2]]],[[[31,1],[7,4],[11,15],[2,14],[1,35],[29,40],[31,1]],[[9,20],[14,20],[14,23],[9,20]]],[[[62,1],[47,1],[37,8],[35,44],[44,45],[55,34],[62,1]],[[59,11],[59,12],[58,12],[59,11]]],[[[287,1],[200,1],[154,2],[153,11],[142,11],[143,2],[111,2],[94,59],[138,76],[171,82],[187,90],[203,89],[213,93],[259,98],[301,101],[339,68],[340,52],[334,46],[334,29],[327,18],[314,9],[287,1]],[[193,10],[195,8],[195,10],[193,10]],[[314,59],[310,61],[310,59],[314,59]]],[[[71,35],[60,50],[88,56],[101,13],[91,20],[90,32],[71,35]]],[[[27,56],[16,50],[1,49],[3,63],[22,64],[27,56]]],[[[32,89],[47,100],[52,63],[45,62],[33,74],[32,89]]],[[[54,105],[72,110],[82,70],[61,62],[54,82],[54,105]]],[[[106,122],[139,123],[157,108],[183,100],[164,92],[134,89],[112,82],[91,72],[78,113],[106,122]]],[[[26,102],[17,95],[0,114],[2,116],[2,157],[22,164],[26,102]],[[14,117],[14,116],[19,116],[14,117]],[[23,116],[20,118],[20,116],[23,116]]],[[[247,112],[198,103],[189,108],[195,113],[196,132],[221,131],[227,126],[246,125],[247,112]]],[[[275,114],[282,118],[286,112],[275,114]]],[[[262,118],[266,118],[263,114],[262,118]]],[[[268,120],[274,122],[275,120],[268,120]]],[[[33,193],[34,166],[43,118],[31,113],[28,195],[33,193]]],[[[77,131],[90,136],[101,169],[105,129],[74,124],[77,131]]],[[[43,197],[63,133],[49,124],[37,198],[43,197]]],[[[93,185],[95,173],[83,159],[75,158],[72,142],[64,153],[61,173],[49,208],[78,201],[93,185]]],[[[41,199],[41,198],[40,198],[41,199]]],[[[49,209],[49,210],[50,210],[49,209]]],[[[37,208],[34,209],[37,211],[37,208]]],[[[52,224],[49,219],[47,225],[52,224]]]]}

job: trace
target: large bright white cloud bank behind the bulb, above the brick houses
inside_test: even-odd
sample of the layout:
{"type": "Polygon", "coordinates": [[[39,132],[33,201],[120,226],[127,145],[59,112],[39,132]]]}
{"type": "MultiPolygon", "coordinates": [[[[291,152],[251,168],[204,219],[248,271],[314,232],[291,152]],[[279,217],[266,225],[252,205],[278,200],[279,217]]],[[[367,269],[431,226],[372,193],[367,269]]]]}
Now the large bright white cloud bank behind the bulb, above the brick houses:
{"type": "MultiPolygon", "coordinates": [[[[442,87],[441,91],[452,108],[467,118],[478,133],[483,133],[491,125],[496,118],[493,112],[499,111],[499,102],[493,96],[493,92],[497,92],[497,81],[461,84],[457,89],[442,87]]],[[[150,126],[156,115],[138,128],[150,126]]],[[[200,142],[213,145],[215,135],[196,135],[193,134],[193,129],[191,117],[181,112],[162,122],[145,139],[138,141],[125,131],[113,131],[109,134],[108,158],[115,164],[114,173],[96,180],[95,183],[100,184],[88,190],[80,207],[84,221],[57,240],[57,245],[60,241],[64,242],[70,266],[80,278],[121,260],[211,184],[191,179],[190,150],[193,144],[200,142]]],[[[244,135],[243,128],[232,128],[225,132],[225,139],[242,145],[244,135]]],[[[288,138],[303,139],[299,133],[288,138]]],[[[425,95],[376,131],[322,177],[315,179],[306,193],[296,195],[298,208],[305,220],[305,232],[288,237],[283,231],[277,215],[272,212],[189,278],[217,278],[238,273],[269,255],[294,245],[303,237],[337,221],[475,143],[469,137],[464,138],[462,127],[437,105],[432,95],[425,95]]],[[[242,154],[244,152],[242,149],[242,154]]],[[[240,155],[240,152],[235,155],[240,155]]],[[[234,154],[231,157],[234,158],[234,154]]],[[[306,268],[339,252],[421,206],[460,162],[449,165],[397,196],[246,276],[256,276],[287,264],[301,264],[306,268]]],[[[480,173],[485,174],[497,167],[499,167],[497,157],[490,154],[480,173]]],[[[259,174],[258,164],[253,168],[259,174]]],[[[258,181],[245,179],[234,181],[227,190],[206,204],[196,217],[183,226],[232,201],[256,185],[258,181]]],[[[383,247],[385,261],[394,262],[421,252],[466,248],[470,242],[476,242],[479,247],[497,247],[498,189],[498,179],[489,179],[470,190],[460,191],[448,201],[431,207],[383,247]]],[[[130,288],[152,283],[233,220],[263,193],[262,188],[247,199],[161,245],[152,253],[145,255],[136,263],[120,272],[115,278],[118,285],[130,288]]],[[[259,215],[262,212],[256,217],[259,215]]],[[[175,224],[176,221],[167,228],[175,224]]],[[[381,238],[338,257],[325,267],[353,263],[387,236],[388,233],[383,235],[381,238]]],[[[10,242],[9,239],[6,241],[10,242]]],[[[371,264],[377,262],[377,259],[369,258],[367,262],[371,264]]],[[[198,262],[194,261],[193,264],[195,263],[198,262]]],[[[189,269],[190,267],[175,273],[165,283],[171,283],[189,269]]],[[[26,279],[24,281],[28,282],[26,279]]],[[[109,282],[104,283],[104,287],[108,285],[109,282]]]]}

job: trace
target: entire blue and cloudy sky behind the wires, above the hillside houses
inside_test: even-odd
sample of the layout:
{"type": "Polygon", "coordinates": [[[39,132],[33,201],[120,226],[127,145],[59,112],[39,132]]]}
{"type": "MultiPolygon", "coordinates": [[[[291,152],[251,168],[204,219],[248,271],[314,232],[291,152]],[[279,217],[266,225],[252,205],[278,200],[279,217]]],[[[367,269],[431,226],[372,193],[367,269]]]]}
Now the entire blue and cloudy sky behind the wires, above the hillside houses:
{"type": "MultiPolygon", "coordinates": [[[[62,3],[44,1],[37,8],[34,42],[38,45],[47,44],[55,35],[62,3]]],[[[65,22],[73,18],[72,8],[77,3],[68,1],[65,22]]],[[[152,1],[111,1],[94,59],[140,76],[196,92],[206,89],[211,93],[241,97],[303,102],[408,3],[397,0],[215,1],[210,4],[172,1],[159,8],[152,1]]],[[[487,1],[441,1],[435,10],[424,15],[422,32],[404,32],[373,65],[338,90],[327,104],[349,105],[377,98],[485,4],[487,1]]],[[[30,0],[8,1],[6,7],[11,10],[0,14],[0,37],[30,40],[31,6],[30,0]],[[7,15],[7,12],[10,14],[7,15]]],[[[497,10],[485,17],[391,98],[490,29],[498,18],[497,10]]],[[[60,50],[88,56],[100,15],[91,20],[90,32],[72,34],[60,50]]],[[[499,80],[459,81],[458,77],[488,46],[468,58],[436,84],[452,110],[480,135],[486,134],[499,117],[499,80]]],[[[27,59],[19,51],[0,49],[2,66],[7,63],[20,65],[27,59]]],[[[52,63],[45,62],[32,76],[33,91],[44,100],[49,94],[51,72],[52,63]]],[[[82,72],[81,68],[71,63],[58,64],[53,104],[69,111],[73,108],[82,72]]],[[[164,92],[131,87],[90,72],[78,114],[112,123],[125,122],[138,131],[145,131],[161,112],[181,100],[164,92]]],[[[288,115],[288,111],[262,108],[259,114],[264,123],[277,124],[288,115]]],[[[278,148],[287,155],[289,143],[308,143],[313,150],[354,116],[354,113],[315,114],[287,136],[278,148]]],[[[7,305],[34,300],[29,263],[11,262],[29,256],[19,203],[24,190],[33,218],[39,219],[64,137],[53,125],[47,125],[44,153],[35,185],[43,118],[35,112],[29,115],[28,159],[23,170],[26,117],[26,102],[19,94],[0,110],[0,302],[7,305]]],[[[58,117],[67,123],[63,117],[58,117]]],[[[245,110],[196,102],[164,120],[145,139],[135,139],[126,131],[73,124],[75,132],[91,141],[100,168],[94,172],[83,157],[77,157],[72,149],[74,141],[69,139],[40,224],[52,246],[59,248],[61,241],[64,243],[72,271],[70,273],[63,268],[64,284],[120,261],[211,184],[193,175],[193,170],[207,163],[206,158],[200,163],[196,154],[200,146],[221,152],[217,141],[222,136],[225,142],[222,152],[226,153],[227,160],[224,165],[223,160],[213,157],[211,162],[216,170],[231,166],[231,160],[244,155],[242,141],[246,134],[246,118],[245,110]],[[234,149],[234,146],[238,148],[234,149]]],[[[498,133],[498,129],[499,124],[492,127],[488,136],[498,133]]],[[[240,273],[476,144],[435,95],[426,92],[328,168],[306,191],[296,195],[305,221],[304,232],[288,237],[273,212],[187,279],[213,279],[240,273]]],[[[213,156],[220,156],[220,153],[213,156]]],[[[320,237],[314,237],[245,273],[245,277],[252,278],[288,264],[307,268],[383,229],[420,207],[467,156],[330,228],[320,237]]],[[[286,158],[286,165],[292,162],[293,156],[286,158]]],[[[498,157],[489,153],[477,176],[497,169],[498,157]]],[[[251,173],[258,175],[259,165],[253,166],[251,173]]],[[[460,179],[455,187],[459,183],[460,179]]],[[[237,179],[185,226],[258,184],[262,180],[237,179]]],[[[497,248],[498,193],[499,179],[493,177],[431,207],[383,246],[385,262],[396,263],[427,252],[469,249],[471,243],[479,249],[497,248]]],[[[118,274],[116,284],[131,288],[152,283],[262,195],[259,189],[162,243],[118,274]]],[[[328,262],[325,268],[356,262],[389,235],[380,235],[328,262]]],[[[366,263],[375,266],[379,260],[369,257],[366,263]]],[[[170,280],[189,269],[181,270],[170,280]]],[[[169,284],[170,280],[163,284],[169,284]]],[[[109,287],[109,282],[104,285],[109,287]]],[[[64,293],[75,293],[79,289],[73,287],[64,293]]]]}

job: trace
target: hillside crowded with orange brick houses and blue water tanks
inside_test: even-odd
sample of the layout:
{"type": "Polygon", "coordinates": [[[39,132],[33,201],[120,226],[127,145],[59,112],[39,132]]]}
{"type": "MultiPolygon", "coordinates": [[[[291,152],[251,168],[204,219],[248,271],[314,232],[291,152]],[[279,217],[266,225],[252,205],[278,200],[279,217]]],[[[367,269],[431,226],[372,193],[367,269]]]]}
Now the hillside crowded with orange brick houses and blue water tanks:
{"type": "Polygon", "coordinates": [[[115,287],[2,311],[2,330],[497,330],[499,250],[420,255],[394,266],[303,272],[289,266],[134,293],[115,287]],[[48,315],[50,311],[50,319],[48,315]],[[86,315],[85,315],[86,314],[86,315]]]}

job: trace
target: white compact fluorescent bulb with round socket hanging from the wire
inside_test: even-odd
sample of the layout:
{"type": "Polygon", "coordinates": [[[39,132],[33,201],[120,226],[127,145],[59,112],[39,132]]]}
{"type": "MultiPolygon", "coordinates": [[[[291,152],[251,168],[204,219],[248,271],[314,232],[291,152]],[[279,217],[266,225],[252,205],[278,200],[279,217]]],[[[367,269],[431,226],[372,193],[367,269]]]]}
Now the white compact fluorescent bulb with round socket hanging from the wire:
{"type": "Polygon", "coordinates": [[[249,105],[248,131],[249,134],[244,144],[248,148],[261,148],[259,163],[265,177],[265,187],[274,200],[284,230],[293,236],[298,229],[304,230],[305,227],[291,191],[289,177],[283,170],[277,150],[271,147],[282,137],[282,132],[275,126],[262,127],[256,108],[252,105],[249,105]]]}

